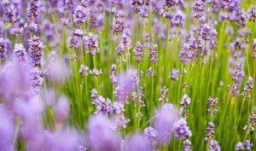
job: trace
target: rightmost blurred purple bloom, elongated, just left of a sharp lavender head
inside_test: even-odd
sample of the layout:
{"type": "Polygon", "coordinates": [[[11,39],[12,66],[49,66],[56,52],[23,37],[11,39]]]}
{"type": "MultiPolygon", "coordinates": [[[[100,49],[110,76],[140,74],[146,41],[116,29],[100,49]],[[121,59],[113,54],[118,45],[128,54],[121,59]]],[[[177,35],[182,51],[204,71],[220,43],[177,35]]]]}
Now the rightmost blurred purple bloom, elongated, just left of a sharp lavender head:
{"type": "Polygon", "coordinates": [[[160,143],[167,143],[171,140],[174,131],[174,123],[178,119],[178,111],[171,103],[165,104],[155,113],[154,129],[157,131],[157,138],[160,143]]]}

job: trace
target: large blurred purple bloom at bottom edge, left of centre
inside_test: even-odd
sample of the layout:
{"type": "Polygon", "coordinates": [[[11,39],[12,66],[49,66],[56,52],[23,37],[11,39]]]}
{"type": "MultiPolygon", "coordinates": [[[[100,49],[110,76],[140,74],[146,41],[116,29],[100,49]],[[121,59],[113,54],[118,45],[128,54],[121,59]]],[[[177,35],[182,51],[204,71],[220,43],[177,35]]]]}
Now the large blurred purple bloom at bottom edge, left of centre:
{"type": "Polygon", "coordinates": [[[88,123],[88,141],[95,151],[119,151],[119,135],[110,129],[106,116],[93,115],[88,123]]]}

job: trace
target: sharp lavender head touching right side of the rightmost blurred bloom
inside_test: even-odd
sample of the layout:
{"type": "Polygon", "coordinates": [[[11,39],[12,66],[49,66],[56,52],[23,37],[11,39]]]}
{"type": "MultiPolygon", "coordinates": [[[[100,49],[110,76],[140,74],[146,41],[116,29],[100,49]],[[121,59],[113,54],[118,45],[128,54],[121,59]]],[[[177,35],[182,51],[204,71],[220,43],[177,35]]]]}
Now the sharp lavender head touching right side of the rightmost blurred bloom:
{"type": "Polygon", "coordinates": [[[189,127],[187,125],[186,119],[178,119],[177,122],[173,124],[174,126],[174,134],[179,139],[188,139],[189,136],[192,136],[191,131],[189,130],[189,127]]]}

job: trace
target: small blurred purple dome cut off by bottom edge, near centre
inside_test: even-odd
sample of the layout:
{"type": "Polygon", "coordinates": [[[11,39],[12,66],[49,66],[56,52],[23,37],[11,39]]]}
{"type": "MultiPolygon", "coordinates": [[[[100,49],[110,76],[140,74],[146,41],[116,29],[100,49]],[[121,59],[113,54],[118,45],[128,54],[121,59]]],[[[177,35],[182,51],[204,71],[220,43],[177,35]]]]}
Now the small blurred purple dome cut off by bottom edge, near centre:
{"type": "Polygon", "coordinates": [[[137,134],[131,136],[130,139],[126,142],[125,151],[151,151],[150,143],[143,135],[137,134]]]}

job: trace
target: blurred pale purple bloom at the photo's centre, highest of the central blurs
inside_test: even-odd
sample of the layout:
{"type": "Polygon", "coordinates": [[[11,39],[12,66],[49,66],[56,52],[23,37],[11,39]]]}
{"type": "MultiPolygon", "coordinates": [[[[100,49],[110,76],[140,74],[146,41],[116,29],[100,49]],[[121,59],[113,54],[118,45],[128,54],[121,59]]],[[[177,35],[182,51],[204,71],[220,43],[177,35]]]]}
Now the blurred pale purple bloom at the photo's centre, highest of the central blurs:
{"type": "Polygon", "coordinates": [[[139,78],[136,70],[129,69],[126,72],[120,73],[118,76],[118,86],[114,92],[115,96],[120,102],[127,103],[131,91],[135,90],[138,84],[139,78]]]}

